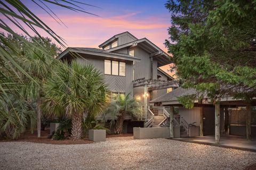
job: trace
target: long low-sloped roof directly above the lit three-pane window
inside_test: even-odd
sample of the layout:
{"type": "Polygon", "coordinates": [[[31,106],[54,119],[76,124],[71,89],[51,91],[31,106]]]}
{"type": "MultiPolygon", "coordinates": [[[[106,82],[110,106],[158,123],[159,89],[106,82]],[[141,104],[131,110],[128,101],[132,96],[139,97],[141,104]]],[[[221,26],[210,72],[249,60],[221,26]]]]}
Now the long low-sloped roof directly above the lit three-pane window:
{"type": "Polygon", "coordinates": [[[83,47],[68,47],[65,51],[59,54],[57,59],[61,59],[63,56],[69,54],[69,52],[97,55],[97,56],[103,56],[107,58],[122,59],[122,60],[128,60],[128,61],[140,61],[139,58],[135,58],[127,54],[106,52],[98,48],[83,48],[83,47]]]}

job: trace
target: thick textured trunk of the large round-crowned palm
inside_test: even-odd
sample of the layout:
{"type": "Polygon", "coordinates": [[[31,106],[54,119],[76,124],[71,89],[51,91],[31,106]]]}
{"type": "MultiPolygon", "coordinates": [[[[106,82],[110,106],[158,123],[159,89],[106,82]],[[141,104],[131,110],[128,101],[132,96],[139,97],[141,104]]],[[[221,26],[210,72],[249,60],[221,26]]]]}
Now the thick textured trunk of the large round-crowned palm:
{"type": "Polygon", "coordinates": [[[79,140],[82,137],[82,114],[72,116],[71,137],[73,140],[79,140]]]}

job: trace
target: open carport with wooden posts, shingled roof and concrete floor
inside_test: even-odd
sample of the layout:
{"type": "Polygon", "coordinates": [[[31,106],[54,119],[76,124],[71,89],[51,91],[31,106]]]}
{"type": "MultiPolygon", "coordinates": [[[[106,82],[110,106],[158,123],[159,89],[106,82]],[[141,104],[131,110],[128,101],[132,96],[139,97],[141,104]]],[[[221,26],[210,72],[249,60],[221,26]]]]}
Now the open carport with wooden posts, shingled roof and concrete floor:
{"type": "MultiPolygon", "coordinates": [[[[242,100],[235,100],[231,97],[220,98],[219,113],[210,99],[194,101],[193,109],[186,109],[178,102],[178,96],[195,94],[193,89],[177,88],[174,91],[162,95],[157,99],[150,101],[154,106],[169,106],[178,108],[180,118],[183,118],[187,124],[195,123],[199,128],[198,136],[180,138],[186,141],[210,142],[217,144],[235,144],[244,141],[250,141],[248,144],[255,145],[253,141],[256,137],[256,111],[255,100],[247,103],[242,100]],[[252,142],[251,142],[252,141],[252,142]]],[[[173,109],[174,110],[174,109],[173,109]]],[[[170,131],[173,131],[173,122],[175,114],[171,114],[170,131]]],[[[182,124],[181,124],[182,126],[182,124]]],[[[172,134],[172,133],[171,133],[172,134]]],[[[182,136],[182,135],[181,135],[182,136]]],[[[171,137],[174,137],[171,135],[171,137]]],[[[237,144],[235,144],[238,147],[237,144]]],[[[234,145],[234,147],[235,147],[234,145]]],[[[246,145],[246,144],[245,144],[246,145]]],[[[241,145],[242,146],[242,145],[241,145]]]]}

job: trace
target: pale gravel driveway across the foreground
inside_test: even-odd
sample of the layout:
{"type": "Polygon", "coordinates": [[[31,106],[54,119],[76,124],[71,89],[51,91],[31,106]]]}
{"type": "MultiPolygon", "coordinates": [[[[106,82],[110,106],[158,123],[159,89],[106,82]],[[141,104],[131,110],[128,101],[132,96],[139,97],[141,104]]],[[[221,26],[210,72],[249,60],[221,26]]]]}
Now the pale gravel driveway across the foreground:
{"type": "Polygon", "coordinates": [[[0,169],[243,169],[256,152],[167,139],[56,145],[1,142],[0,169]]]}

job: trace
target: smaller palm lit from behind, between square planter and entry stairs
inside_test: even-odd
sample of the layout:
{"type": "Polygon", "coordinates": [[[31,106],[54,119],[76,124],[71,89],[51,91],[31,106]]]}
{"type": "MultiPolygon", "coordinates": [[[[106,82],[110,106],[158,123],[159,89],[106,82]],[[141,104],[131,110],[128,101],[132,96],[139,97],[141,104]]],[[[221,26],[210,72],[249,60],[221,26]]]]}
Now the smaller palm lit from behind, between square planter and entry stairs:
{"type": "Polygon", "coordinates": [[[119,94],[106,112],[113,117],[114,133],[119,134],[123,131],[123,123],[127,115],[137,116],[141,113],[140,103],[127,95],[119,94]],[[116,119],[116,122],[115,122],[116,119]]]}

